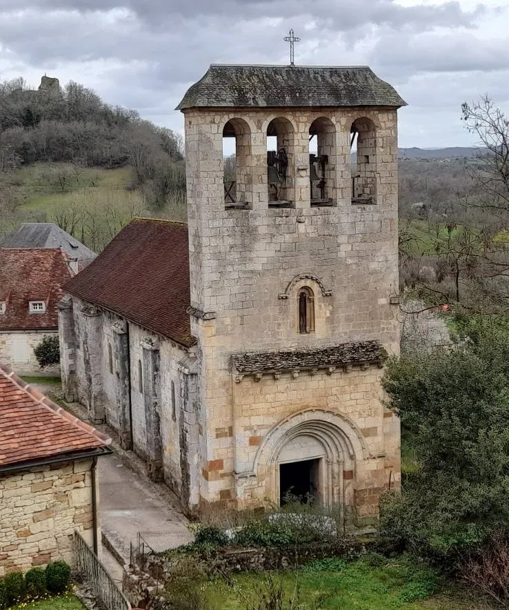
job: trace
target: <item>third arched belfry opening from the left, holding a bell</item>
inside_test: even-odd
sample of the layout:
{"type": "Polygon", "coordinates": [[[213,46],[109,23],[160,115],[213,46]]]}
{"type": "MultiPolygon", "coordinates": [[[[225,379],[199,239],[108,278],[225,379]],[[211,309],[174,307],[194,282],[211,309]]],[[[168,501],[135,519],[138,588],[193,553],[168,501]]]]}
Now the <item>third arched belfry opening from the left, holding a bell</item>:
{"type": "Polygon", "coordinates": [[[309,128],[309,177],[311,205],[336,204],[336,128],[330,119],[319,117],[309,128]]]}

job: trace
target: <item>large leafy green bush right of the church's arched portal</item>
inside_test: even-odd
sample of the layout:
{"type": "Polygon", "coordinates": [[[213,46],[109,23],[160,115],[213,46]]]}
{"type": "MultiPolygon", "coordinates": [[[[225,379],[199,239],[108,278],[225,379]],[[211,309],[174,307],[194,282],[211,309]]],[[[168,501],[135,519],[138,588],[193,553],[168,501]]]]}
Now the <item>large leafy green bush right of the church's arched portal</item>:
{"type": "Polygon", "coordinates": [[[454,348],[392,358],[384,373],[419,466],[382,499],[381,534],[448,571],[508,531],[507,337],[504,319],[463,320],[454,348]]]}

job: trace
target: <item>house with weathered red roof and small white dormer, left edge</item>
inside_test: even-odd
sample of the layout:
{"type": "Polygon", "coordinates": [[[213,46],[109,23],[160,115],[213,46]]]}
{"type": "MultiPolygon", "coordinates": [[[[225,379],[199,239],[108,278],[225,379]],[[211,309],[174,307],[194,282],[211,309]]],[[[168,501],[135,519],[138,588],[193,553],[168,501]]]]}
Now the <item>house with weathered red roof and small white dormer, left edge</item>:
{"type": "Polygon", "coordinates": [[[59,248],[0,248],[0,362],[20,375],[40,372],[34,354],[58,335],[61,286],[74,275],[59,248]]]}

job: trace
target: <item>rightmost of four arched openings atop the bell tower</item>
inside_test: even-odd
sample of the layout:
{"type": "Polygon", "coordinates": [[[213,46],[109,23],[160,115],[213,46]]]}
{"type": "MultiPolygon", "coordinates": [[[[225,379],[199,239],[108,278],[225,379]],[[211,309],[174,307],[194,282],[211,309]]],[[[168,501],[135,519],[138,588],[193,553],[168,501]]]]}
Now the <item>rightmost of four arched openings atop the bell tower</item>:
{"type": "Polygon", "coordinates": [[[375,124],[367,117],[356,119],[350,128],[350,137],[351,151],[355,152],[357,157],[356,163],[352,164],[352,204],[376,204],[377,130],[375,124]]]}

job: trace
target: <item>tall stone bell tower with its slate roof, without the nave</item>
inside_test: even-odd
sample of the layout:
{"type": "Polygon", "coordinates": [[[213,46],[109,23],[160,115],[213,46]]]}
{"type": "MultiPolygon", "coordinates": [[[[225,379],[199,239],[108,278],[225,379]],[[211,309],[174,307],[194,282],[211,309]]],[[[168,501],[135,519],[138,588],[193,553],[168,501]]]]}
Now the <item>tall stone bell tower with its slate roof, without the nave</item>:
{"type": "Polygon", "coordinates": [[[399,349],[404,105],[367,67],[216,65],[179,104],[201,506],[290,492],[361,524],[398,484],[379,380],[399,349]]]}

